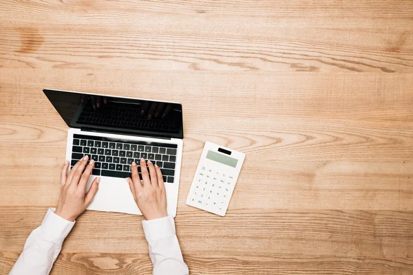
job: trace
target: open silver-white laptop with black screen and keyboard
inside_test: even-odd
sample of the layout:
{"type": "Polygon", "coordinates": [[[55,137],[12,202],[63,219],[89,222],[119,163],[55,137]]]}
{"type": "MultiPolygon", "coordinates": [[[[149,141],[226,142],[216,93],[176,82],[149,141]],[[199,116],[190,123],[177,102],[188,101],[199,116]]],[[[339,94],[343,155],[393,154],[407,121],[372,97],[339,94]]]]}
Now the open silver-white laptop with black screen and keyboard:
{"type": "Polygon", "coordinates": [[[66,159],[70,168],[83,156],[94,159],[87,190],[100,176],[99,189],[88,210],[142,214],[126,177],[140,158],[162,171],[167,211],[176,216],[182,161],[182,105],[176,102],[43,90],[67,126],[66,159]]]}

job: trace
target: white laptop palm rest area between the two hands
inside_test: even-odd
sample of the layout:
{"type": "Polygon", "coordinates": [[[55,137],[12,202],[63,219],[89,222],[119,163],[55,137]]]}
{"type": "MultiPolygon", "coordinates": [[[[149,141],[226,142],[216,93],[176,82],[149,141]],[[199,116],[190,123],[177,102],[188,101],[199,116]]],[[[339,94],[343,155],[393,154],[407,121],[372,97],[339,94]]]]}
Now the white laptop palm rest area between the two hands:
{"type": "MultiPolygon", "coordinates": [[[[89,190],[90,184],[95,178],[96,176],[89,178],[86,190],[89,190]]],[[[141,214],[126,179],[116,177],[100,177],[98,192],[86,209],[141,214]]]]}

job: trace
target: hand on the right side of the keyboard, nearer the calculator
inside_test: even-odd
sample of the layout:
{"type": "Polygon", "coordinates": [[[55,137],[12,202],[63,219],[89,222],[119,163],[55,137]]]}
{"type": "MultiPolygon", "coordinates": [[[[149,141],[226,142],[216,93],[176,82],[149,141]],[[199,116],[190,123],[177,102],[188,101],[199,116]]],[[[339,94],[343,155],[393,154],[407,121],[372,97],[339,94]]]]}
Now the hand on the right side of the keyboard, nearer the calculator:
{"type": "Polygon", "coordinates": [[[127,177],[127,182],[143,217],[147,220],[167,217],[167,193],[159,166],[153,166],[149,160],[147,167],[145,159],[140,159],[143,186],[140,183],[138,166],[135,162],[132,163],[131,170],[132,178],[127,177]],[[150,179],[149,175],[151,175],[150,179]]]}

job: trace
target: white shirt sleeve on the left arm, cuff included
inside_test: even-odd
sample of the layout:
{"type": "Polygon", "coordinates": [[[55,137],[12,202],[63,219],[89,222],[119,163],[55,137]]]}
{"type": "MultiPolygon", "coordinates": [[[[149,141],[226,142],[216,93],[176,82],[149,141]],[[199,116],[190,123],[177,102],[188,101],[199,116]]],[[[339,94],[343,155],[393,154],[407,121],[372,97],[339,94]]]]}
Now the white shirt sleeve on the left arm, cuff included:
{"type": "Polygon", "coordinates": [[[54,214],[55,210],[49,208],[41,225],[32,231],[10,275],[45,275],[52,270],[63,241],[75,223],[54,214]]]}

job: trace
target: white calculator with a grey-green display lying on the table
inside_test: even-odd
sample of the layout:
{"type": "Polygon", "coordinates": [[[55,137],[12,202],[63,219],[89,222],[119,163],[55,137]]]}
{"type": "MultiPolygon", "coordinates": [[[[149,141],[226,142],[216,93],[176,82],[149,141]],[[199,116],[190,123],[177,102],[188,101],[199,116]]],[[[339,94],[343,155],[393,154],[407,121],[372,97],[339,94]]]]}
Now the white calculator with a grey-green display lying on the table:
{"type": "Polygon", "coordinates": [[[187,205],[225,216],[245,154],[205,142],[187,205]]]}

